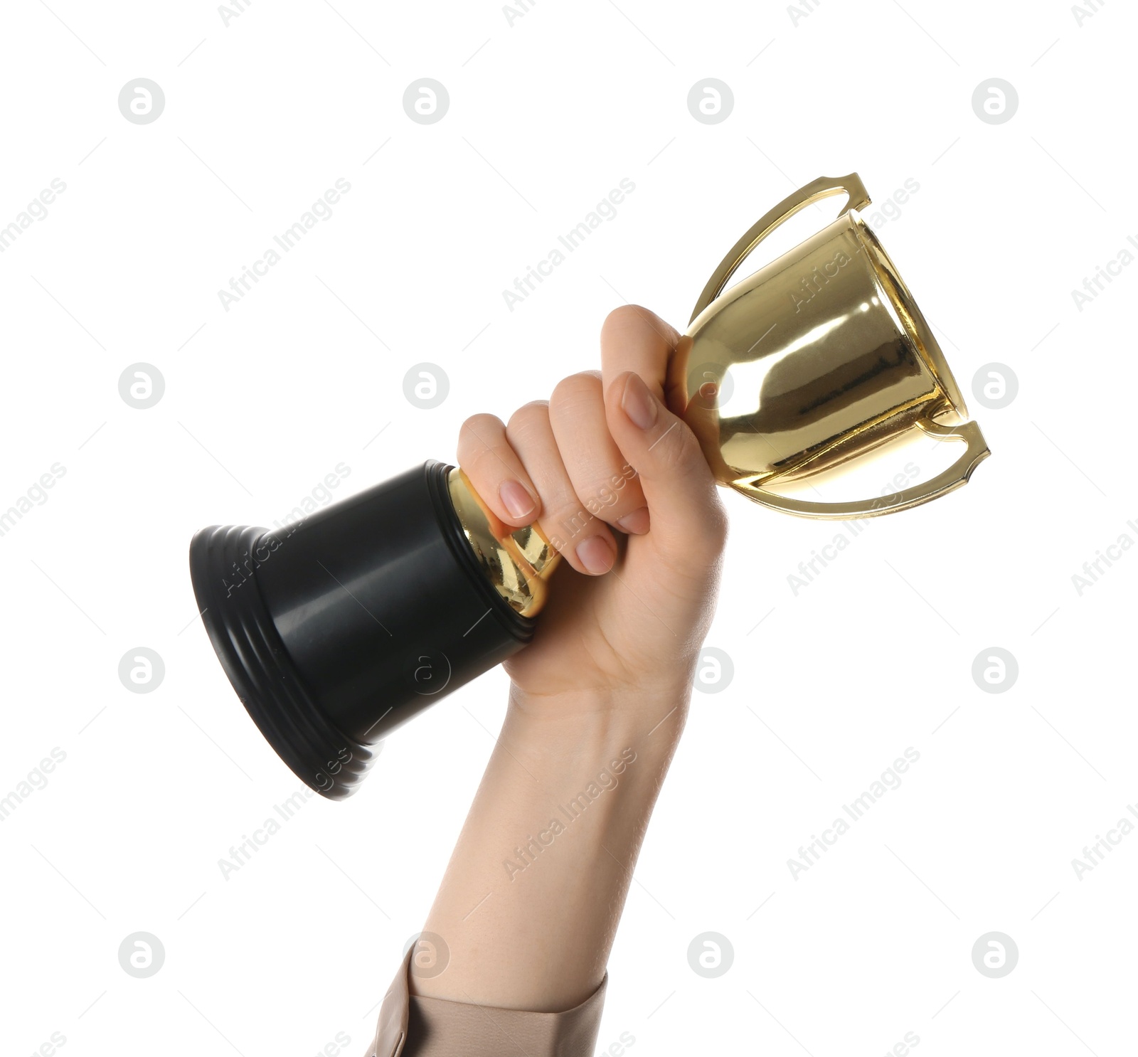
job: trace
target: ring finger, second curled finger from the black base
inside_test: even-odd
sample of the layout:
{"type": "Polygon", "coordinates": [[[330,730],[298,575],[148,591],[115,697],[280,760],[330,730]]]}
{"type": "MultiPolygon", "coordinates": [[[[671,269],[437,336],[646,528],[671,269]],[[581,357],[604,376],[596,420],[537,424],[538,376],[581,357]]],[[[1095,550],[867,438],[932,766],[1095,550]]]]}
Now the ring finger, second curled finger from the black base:
{"type": "Polygon", "coordinates": [[[578,572],[608,572],[616,562],[616,540],[604,521],[585,509],[574,488],[553,435],[550,405],[535,400],[519,407],[506,436],[537,489],[542,506],[538,523],[546,538],[578,572]]]}

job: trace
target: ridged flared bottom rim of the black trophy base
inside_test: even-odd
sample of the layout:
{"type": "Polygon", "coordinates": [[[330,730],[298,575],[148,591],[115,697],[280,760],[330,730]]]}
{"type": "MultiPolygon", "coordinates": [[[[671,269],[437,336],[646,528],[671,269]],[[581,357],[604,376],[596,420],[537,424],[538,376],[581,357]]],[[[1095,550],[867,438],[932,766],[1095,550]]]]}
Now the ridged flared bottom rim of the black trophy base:
{"type": "MultiPolygon", "coordinates": [[[[256,580],[266,529],[209,526],[190,542],[201,621],[233,689],[291,771],[329,800],[351,796],[378,751],[339,730],[300,679],[256,580]]],[[[269,553],[267,545],[262,550],[269,553]]]]}

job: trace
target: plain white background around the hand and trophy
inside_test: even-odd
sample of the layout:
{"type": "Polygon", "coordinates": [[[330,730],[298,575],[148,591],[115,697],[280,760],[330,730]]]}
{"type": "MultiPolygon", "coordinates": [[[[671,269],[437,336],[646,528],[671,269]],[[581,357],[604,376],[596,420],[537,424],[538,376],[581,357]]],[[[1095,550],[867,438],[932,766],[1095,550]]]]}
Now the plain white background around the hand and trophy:
{"type": "MultiPolygon", "coordinates": [[[[271,525],[340,462],[344,495],[453,459],[468,414],[596,366],[616,305],[683,329],[759,215],[850,170],[867,220],[920,184],[877,233],[993,454],[797,595],[787,576],[835,527],[727,496],[708,643],[734,680],[695,695],[599,1048],[630,1032],[633,1054],[874,1055],[914,1032],[929,1057],[1133,1052],[1138,834],[1081,880],[1071,860],[1138,802],[1138,552],[1081,595],[1072,575],[1138,539],[1138,267],[1082,311],[1071,291],[1138,237],[1138,18],[1110,3],[1080,24],[1057,0],[799,11],[539,0],[511,24],[489,2],[257,0],[225,25],[206,2],[5,5],[0,226],[66,183],[0,254],[0,509],[66,468],[0,537],[0,796],[66,752],[0,826],[6,1054],[52,1032],[65,1055],[307,1055],[338,1032],[363,1051],[504,676],[390,737],[355,798],[314,798],[223,880],[217,860],[299,783],[195,619],[190,536],[271,525]],[[118,110],[137,77],[165,92],[154,123],[118,110]],[[404,113],[420,77],[448,90],[436,124],[404,113]],[[687,109],[706,77],[734,93],[718,124],[687,109]],[[991,77],[1019,93],[1004,124],[973,112],[991,77]],[[226,312],[218,289],[338,177],[332,217],[226,312]],[[511,312],[503,289],[622,177],[617,216],[511,312]],[[146,411],[117,389],[140,361],[166,385],[146,411]],[[451,383],[434,411],[403,395],[424,361],[451,383]],[[1020,386],[998,411],[971,396],[991,362],[1020,386]],[[154,693],[119,683],[135,646],[164,659],[154,693]],[[1006,693],[972,678],[991,646],[1019,662],[1006,693]],[[787,859],[907,746],[904,784],[795,880],[787,859]],[[117,959],[138,931],[166,952],[146,980],[117,959]],[[734,949],[714,980],[686,958],[708,931],[734,949]],[[1019,947],[1003,978],[972,963],[991,931],[1019,947]]],[[[918,441],[864,490],[890,460],[940,457],[918,441]]]]}

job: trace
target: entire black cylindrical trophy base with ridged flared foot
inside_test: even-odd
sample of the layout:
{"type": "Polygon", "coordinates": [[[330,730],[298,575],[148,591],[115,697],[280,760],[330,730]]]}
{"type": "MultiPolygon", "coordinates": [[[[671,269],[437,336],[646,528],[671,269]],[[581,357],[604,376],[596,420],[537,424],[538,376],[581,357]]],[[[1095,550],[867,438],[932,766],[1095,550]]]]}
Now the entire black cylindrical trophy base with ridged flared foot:
{"type": "Polygon", "coordinates": [[[272,531],[211,526],[190,543],[209,641],[277,754],[349,796],[378,743],[530,641],[478,567],[427,462],[272,531]]]}

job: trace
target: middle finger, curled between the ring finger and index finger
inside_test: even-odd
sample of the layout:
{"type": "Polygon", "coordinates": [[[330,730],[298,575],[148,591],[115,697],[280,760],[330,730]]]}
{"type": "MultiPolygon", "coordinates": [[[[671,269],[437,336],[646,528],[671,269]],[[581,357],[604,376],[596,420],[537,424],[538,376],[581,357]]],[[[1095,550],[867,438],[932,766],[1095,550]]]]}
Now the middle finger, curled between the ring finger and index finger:
{"type": "Polygon", "coordinates": [[[550,424],[579,507],[621,531],[642,535],[649,513],[636,471],[609,433],[597,372],[563,379],[550,398],[550,424]]]}

